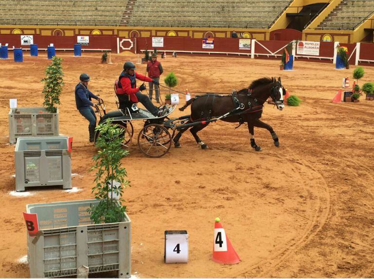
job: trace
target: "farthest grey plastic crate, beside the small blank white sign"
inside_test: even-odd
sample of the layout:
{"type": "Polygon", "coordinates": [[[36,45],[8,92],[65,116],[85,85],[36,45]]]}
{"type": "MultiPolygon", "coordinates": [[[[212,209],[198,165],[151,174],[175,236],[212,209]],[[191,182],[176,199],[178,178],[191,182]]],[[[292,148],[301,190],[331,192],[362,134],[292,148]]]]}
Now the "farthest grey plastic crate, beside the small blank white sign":
{"type": "Polygon", "coordinates": [[[17,138],[58,136],[58,108],[49,113],[45,107],[11,108],[9,118],[9,142],[17,138]]]}

